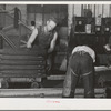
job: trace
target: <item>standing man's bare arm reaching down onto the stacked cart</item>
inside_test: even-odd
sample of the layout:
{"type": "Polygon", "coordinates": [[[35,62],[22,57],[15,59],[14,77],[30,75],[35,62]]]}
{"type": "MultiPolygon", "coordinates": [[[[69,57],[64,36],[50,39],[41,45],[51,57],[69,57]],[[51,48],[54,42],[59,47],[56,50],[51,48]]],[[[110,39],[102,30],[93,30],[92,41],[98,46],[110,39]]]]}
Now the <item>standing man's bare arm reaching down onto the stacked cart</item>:
{"type": "Polygon", "coordinates": [[[31,33],[31,36],[30,36],[28,42],[27,42],[27,48],[31,48],[31,44],[32,44],[32,42],[34,41],[34,39],[36,39],[37,36],[38,36],[38,29],[36,28],[36,29],[32,31],[32,33],[31,33]]]}

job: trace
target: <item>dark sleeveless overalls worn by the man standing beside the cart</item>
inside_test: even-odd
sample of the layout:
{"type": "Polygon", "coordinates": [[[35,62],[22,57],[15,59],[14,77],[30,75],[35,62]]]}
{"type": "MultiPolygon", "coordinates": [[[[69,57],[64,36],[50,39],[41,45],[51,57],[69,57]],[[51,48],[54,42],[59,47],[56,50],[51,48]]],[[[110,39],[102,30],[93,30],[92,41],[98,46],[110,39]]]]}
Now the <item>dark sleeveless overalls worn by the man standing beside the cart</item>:
{"type": "Polygon", "coordinates": [[[39,50],[44,50],[46,51],[46,53],[44,53],[44,58],[46,58],[46,60],[48,60],[47,61],[47,71],[48,71],[48,73],[47,74],[49,74],[49,72],[51,71],[51,69],[52,69],[52,53],[48,53],[48,49],[49,49],[49,47],[50,47],[50,43],[51,43],[51,40],[53,39],[53,34],[54,34],[54,30],[52,30],[52,31],[48,31],[48,32],[44,32],[44,29],[43,29],[43,27],[41,27],[41,28],[39,28],[38,29],[38,37],[37,37],[37,46],[38,46],[38,48],[39,48],[39,50]]]}

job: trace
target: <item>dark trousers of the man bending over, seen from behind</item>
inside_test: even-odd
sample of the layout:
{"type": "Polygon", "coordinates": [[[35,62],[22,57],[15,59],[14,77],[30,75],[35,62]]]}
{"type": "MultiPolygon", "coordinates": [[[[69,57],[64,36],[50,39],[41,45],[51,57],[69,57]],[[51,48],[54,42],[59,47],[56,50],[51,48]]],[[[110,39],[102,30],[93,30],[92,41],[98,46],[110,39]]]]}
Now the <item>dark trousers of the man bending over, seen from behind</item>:
{"type": "Polygon", "coordinates": [[[75,87],[82,78],[84,98],[94,98],[94,67],[92,58],[87,52],[75,52],[69,59],[63,84],[63,98],[74,98],[75,87]]]}

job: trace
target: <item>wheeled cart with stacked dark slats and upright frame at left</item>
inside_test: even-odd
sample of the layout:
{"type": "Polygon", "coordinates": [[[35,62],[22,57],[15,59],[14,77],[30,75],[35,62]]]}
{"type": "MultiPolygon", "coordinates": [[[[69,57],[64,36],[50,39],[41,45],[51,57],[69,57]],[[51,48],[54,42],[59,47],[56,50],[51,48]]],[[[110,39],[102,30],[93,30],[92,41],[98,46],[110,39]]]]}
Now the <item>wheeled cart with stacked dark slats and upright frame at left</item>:
{"type": "Polygon", "coordinates": [[[0,87],[9,88],[9,82],[31,82],[32,88],[41,87],[46,77],[44,51],[37,47],[27,49],[30,28],[20,20],[20,10],[14,8],[14,17],[0,12],[0,87]]]}

